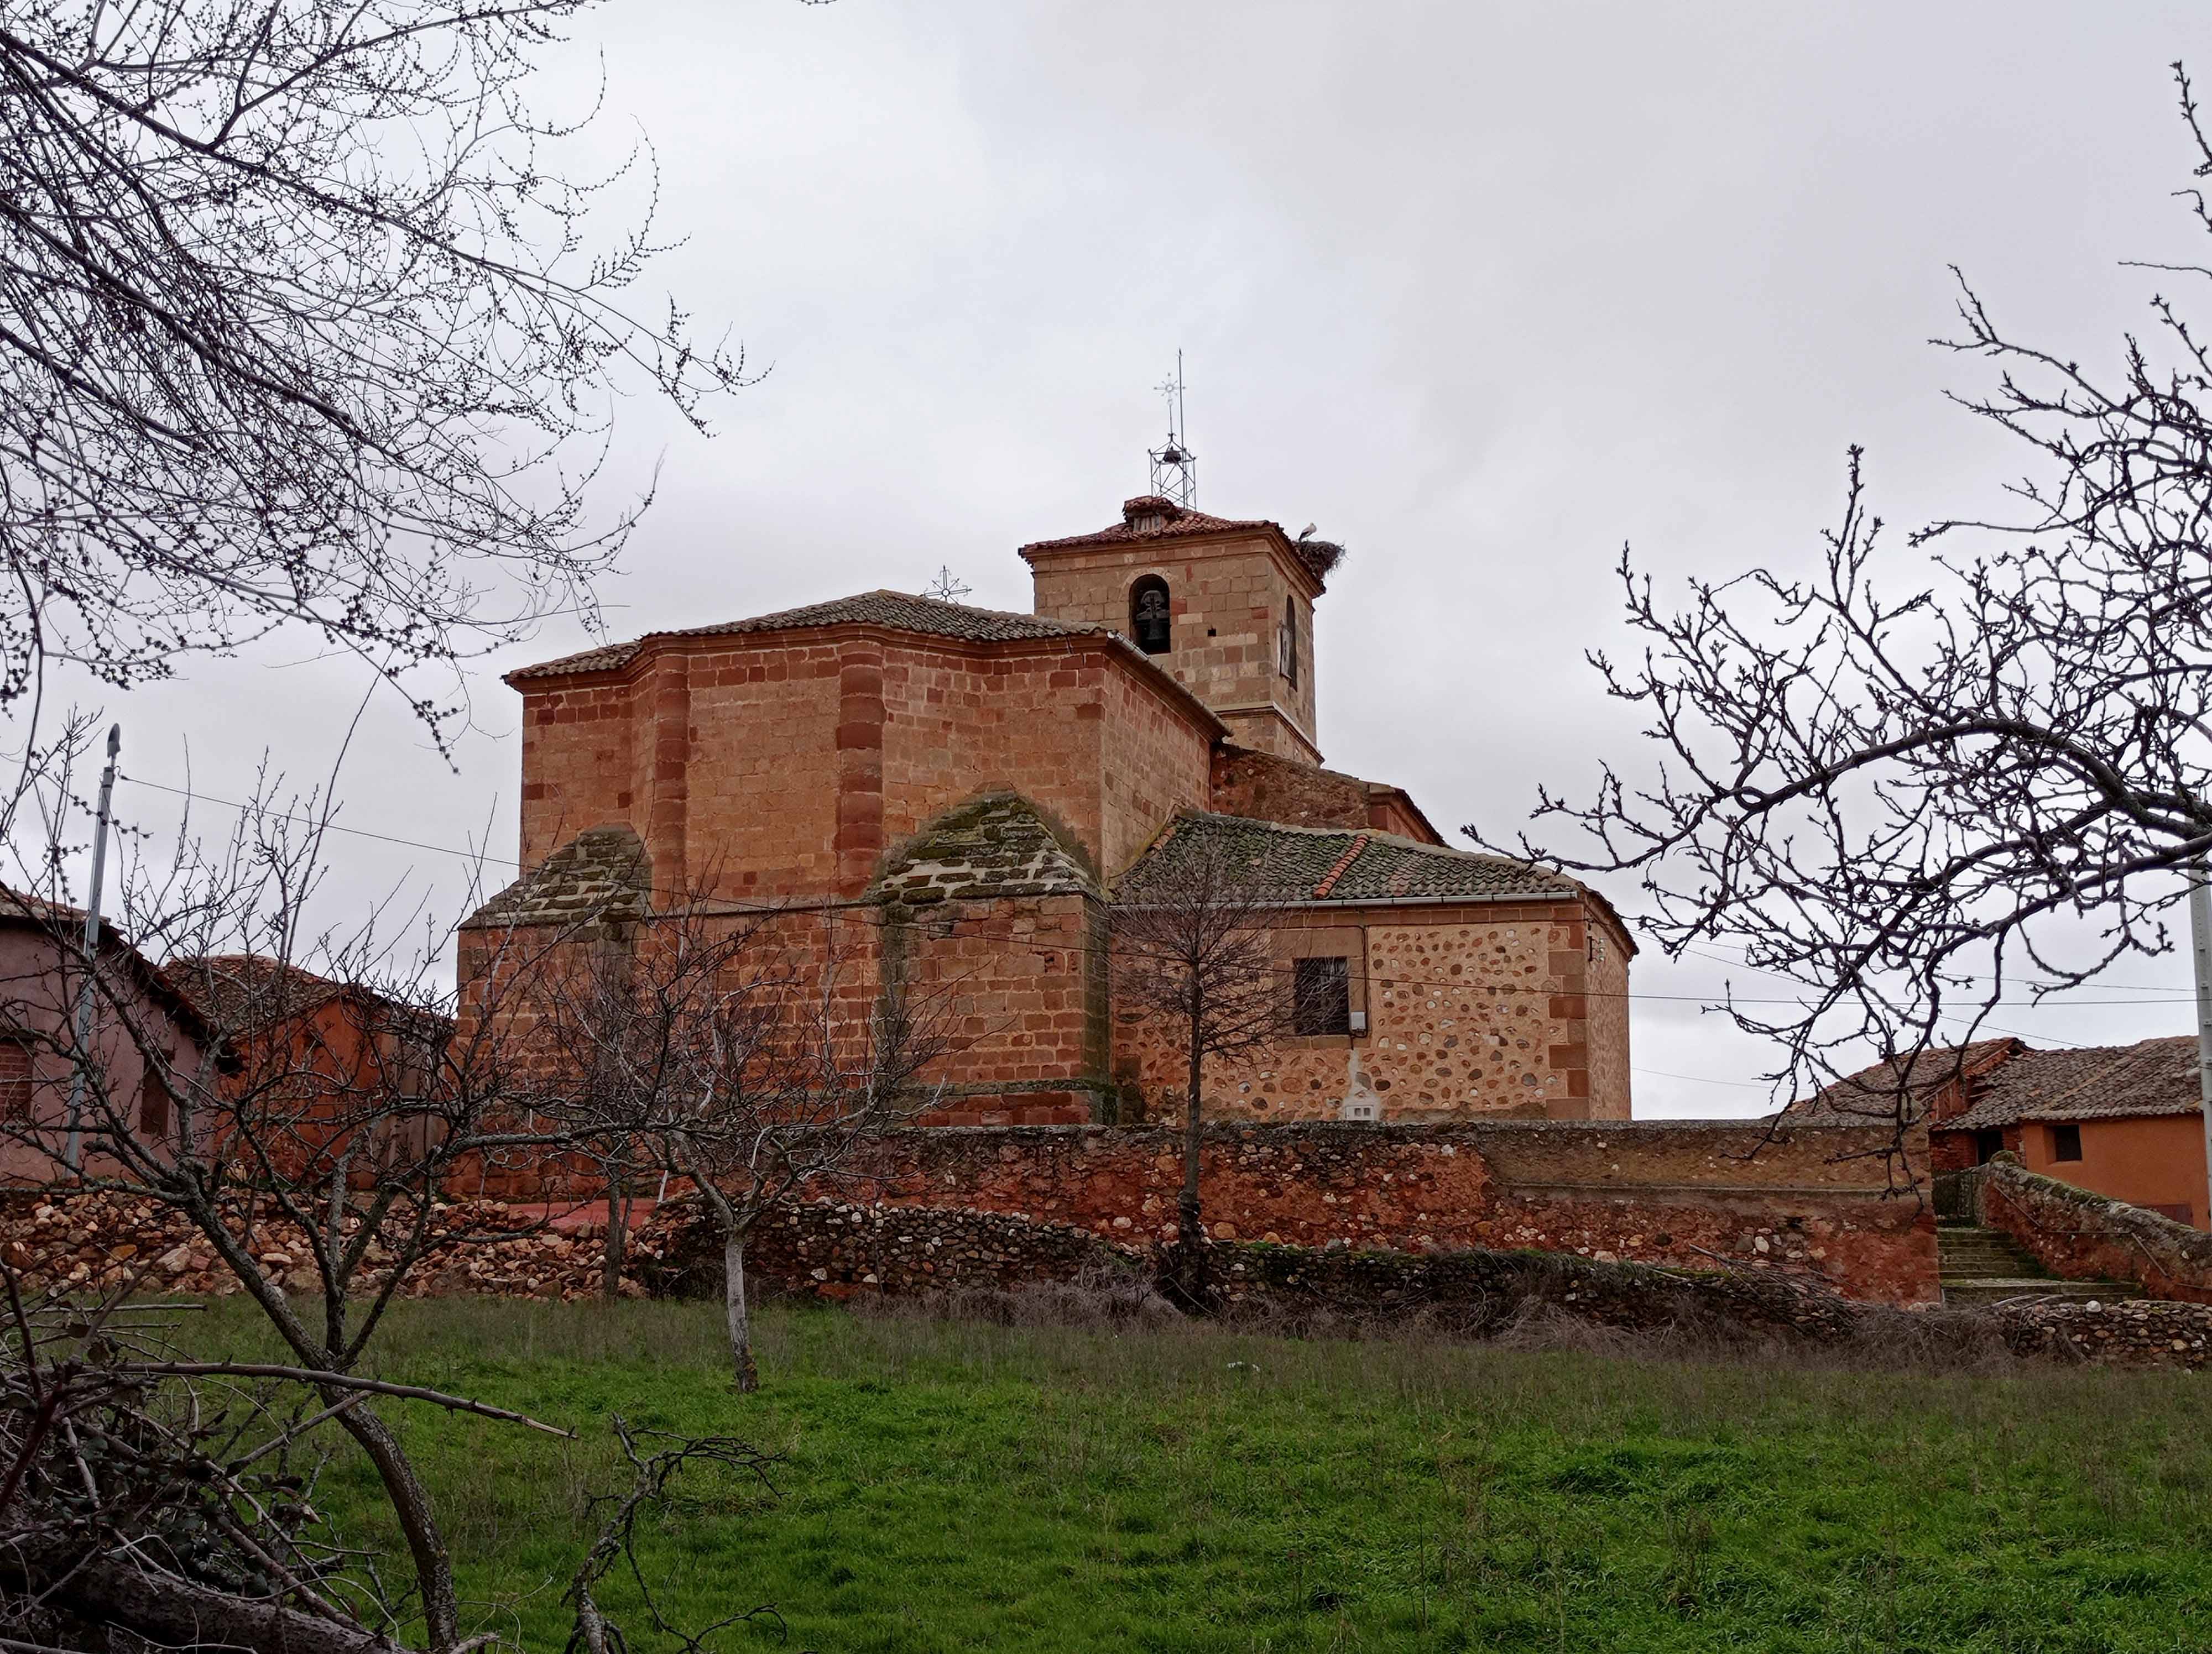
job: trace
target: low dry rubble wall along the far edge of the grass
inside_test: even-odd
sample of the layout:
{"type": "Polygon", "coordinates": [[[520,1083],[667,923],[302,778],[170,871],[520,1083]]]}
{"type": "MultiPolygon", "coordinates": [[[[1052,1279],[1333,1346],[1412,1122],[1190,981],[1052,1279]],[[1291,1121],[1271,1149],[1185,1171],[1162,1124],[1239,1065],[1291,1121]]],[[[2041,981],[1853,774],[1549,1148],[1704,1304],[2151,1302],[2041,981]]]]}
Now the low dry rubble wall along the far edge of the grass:
{"type": "MultiPolygon", "coordinates": [[[[420,1269],[407,1296],[588,1298],[599,1291],[599,1238],[544,1225],[542,1207],[489,1203],[442,1207],[438,1227],[469,1238],[420,1269]]],[[[261,1223],[257,1256],[312,1287],[305,1247],[285,1225],[261,1223]],[[279,1263],[283,1260],[283,1263],[279,1263]]],[[[657,1210],[630,1247],[624,1296],[712,1296],[721,1289],[719,1240],[695,1201],[657,1210]]],[[[0,1260],[35,1294],[62,1287],[108,1294],[219,1296],[237,1283],[206,1243],[148,1201],[91,1194],[0,1201],[0,1260]]],[[[1128,1311],[1148,1298],[1155,1247],[1133,1247],[1068,1223],[964,1207],[847,1205],[818,1201],[774,1214],[748,1247],[748,1271],[770,1289],[830,1300],[874,1296],[998,1296],[1073,1287],[1082,1302],[1128,1311]]],[[[1666,1269],[1531,1252],[1365,1252],[1349,1245],[1287,1247],[1214,1243],[1212,1274],[1232,1316],[1287,1329],[1394,1331],[1429,1327],[1486,1336],[1531,1309],[1630,1333],[1688,1333],[1712,1344],[1885,1347],[1922,1322],[1854,1305],[1801,1269],[1756,1265],[1666,1269]],[[1889,1320],[1885,1320],[1885,1316],[1889,1320]]],[[[1936,1311],[1947,1316],[1953,1311],[1936,1311]]],[[[1969,1311],[2015,1353],[2121,1367],[2212,1364],[2212,1305],[2017,1302],[1969,1311]]]]}

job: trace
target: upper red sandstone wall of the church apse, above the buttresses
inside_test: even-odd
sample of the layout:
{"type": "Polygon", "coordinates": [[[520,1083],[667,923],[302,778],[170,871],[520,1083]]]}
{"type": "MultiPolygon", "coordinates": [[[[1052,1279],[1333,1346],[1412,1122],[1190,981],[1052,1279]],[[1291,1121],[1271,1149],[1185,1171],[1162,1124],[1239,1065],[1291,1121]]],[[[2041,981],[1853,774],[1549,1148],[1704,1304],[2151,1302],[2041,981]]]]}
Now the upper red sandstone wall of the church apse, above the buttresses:
{"type": "Polygon", "coordinates": [[[1117,643],[971,646],[876,626],[650,639],[522,685],[522,860],[628,823],[655,882],[856,893],[885,845],[982,789],[1066,823],[1102,873],[1206,807],[1219,725],[1117,643]]]}

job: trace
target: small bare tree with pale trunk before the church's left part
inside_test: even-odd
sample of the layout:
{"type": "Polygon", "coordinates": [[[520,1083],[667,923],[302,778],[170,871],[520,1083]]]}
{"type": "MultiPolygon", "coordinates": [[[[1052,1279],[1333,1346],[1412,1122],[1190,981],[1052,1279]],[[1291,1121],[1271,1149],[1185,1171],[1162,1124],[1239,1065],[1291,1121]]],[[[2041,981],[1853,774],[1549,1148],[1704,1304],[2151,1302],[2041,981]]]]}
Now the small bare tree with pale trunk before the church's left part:
{"type": "Polygon", "coordinates": [[[872,1179],[869,1150],[929,1106],[922,1072],[951,1048],[942,997],[896,973],[865,980],[883,957],[872,940],[845,911],[730,913],[695,898],[538,988],[540,1037],[573,1077],[575,1139],[602,1163],[619,1143],[630,1176],[679,1179],[714,1225],[739,1391],[761,1384],[752,1232],[792,1201],[872,1179]]]}

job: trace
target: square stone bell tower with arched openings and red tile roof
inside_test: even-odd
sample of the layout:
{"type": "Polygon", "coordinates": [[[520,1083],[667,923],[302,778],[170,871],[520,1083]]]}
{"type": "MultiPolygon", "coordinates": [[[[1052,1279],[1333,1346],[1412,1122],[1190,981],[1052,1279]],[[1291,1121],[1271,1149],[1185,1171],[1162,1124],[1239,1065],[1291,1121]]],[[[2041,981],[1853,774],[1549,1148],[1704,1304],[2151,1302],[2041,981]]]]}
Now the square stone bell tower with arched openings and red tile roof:
{"type": "Polygon", "coordinates": [[[1110,528],[1022,546],[1037,615],[1121,632],[1239,745],[1303,763],[1321,763],[1314,599],[1340,555],[1274,522],[1212,517],[1152,493],[1121,502],[1110,528]]]}

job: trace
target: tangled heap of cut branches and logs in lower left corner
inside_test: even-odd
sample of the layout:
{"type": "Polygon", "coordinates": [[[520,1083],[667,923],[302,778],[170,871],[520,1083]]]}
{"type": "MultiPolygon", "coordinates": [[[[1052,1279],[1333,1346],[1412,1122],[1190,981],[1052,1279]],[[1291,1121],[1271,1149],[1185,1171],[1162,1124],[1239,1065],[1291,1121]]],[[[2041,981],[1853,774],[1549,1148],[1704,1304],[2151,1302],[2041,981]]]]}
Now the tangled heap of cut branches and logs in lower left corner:
{"type": "MultiPolygon", "coordinates": [[[[440,1406],[568,1437],[553,1424],[420,1384],[283,1362],[190,1360],[173,1305],[24,1298],[0,1269],[0,1632],[7,1647],[166,1647],[254,1654],[403,1654],[376,1557],[334,1532],[319,1484],[321,1428],[369,1397],[440,1406]],[[314,1397],[336,1395],[327,1404],[314,1397]]],[[[184,1309],[190,1309],[186,1305],[184,1309]]],[[[577,1568],[571,1650],[628,1641],[597,1599],[626,1566],[653,1630],[686,1650],[703,1632],[668,1621],[637,1566],[641,1517],[666,1508],[695,1464],[765,1486],[772,1459],[732,1437],[684,1440],[613,1422],[628,1493],[577,1568]]],[[[489,1641],[489,1639],[487,1639],[489,1641]]]]}

